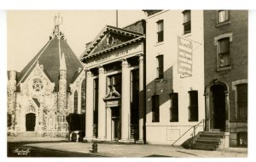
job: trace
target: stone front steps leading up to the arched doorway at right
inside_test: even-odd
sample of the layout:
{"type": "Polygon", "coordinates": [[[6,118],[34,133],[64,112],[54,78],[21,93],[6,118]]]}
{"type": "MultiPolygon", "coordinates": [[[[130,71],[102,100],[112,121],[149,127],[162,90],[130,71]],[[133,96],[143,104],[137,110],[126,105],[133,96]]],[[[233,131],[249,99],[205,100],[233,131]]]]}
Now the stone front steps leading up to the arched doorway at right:
{"type": "Polygon", "coordinates": [[[226,148],[225,141],[229,140],[226,136],[224,131],[201,131],[195,137],[192,149],[214,151],[217,148],[226,148]]]}

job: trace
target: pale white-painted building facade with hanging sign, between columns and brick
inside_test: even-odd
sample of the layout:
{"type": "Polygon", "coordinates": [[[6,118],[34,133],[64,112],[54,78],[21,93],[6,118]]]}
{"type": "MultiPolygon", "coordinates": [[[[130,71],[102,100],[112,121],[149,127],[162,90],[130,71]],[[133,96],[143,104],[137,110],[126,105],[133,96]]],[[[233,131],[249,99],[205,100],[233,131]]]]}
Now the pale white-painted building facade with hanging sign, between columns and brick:
{"type": "Polygon", "coordinates": [[[203,11],[144,12],[147,143],[180,145],[203,131],[203,11]]]}

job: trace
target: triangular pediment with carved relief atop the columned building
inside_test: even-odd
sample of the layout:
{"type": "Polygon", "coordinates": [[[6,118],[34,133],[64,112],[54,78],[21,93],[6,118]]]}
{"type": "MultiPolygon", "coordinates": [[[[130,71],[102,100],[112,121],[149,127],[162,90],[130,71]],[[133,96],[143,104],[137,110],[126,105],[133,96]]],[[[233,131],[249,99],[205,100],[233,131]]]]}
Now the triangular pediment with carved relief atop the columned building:
{"type": "Polygon", "coordinates": [[[123,46],[125,42],[131,42],[132,40],[137,40],[137,38],[140,37],[144,37],[144,35],[139,32],[107,25],[98,34],[98,36],[96,36],[95,40],[90,43],[82,58],[93,55],[94,53],[100,53],[101,51],[105,51],[113,47],[123,46]]]}

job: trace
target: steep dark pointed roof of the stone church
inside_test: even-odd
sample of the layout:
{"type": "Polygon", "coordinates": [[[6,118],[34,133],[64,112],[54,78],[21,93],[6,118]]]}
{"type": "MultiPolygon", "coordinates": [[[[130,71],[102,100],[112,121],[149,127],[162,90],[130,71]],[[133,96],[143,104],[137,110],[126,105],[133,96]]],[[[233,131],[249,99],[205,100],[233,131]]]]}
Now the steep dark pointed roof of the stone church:
{"type": "Polygon", "coordinates": [[[77,71],[83,69],[83,65],[69,47],[63,33],[61,33],[60,27],[56,25],[60,24],[55,23],[55,29],[52,36],[49,37],[49,42],[21,70],[17,86],[26,81],[27,76],[31,74],[37,62],[40,65],[43,64],[44,73],[49,76],[50,81],[55,82],[55,91],[59,89],[60,70],[67,70],[67,85],[69,85],[73,83],[73,76],[77,71]]]}

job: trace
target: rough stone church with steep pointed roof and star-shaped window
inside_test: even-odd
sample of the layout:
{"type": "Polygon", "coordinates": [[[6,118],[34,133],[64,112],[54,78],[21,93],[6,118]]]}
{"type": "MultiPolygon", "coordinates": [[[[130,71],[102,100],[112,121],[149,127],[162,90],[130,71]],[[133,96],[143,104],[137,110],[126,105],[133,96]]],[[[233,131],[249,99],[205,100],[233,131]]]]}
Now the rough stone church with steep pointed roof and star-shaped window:
{"type": "Polygon", "coordinates": [[[67,115],[85,112],[83,65],[60,27],[23,70],[8,71],[9,135],[66,136],[67,115]]]}

